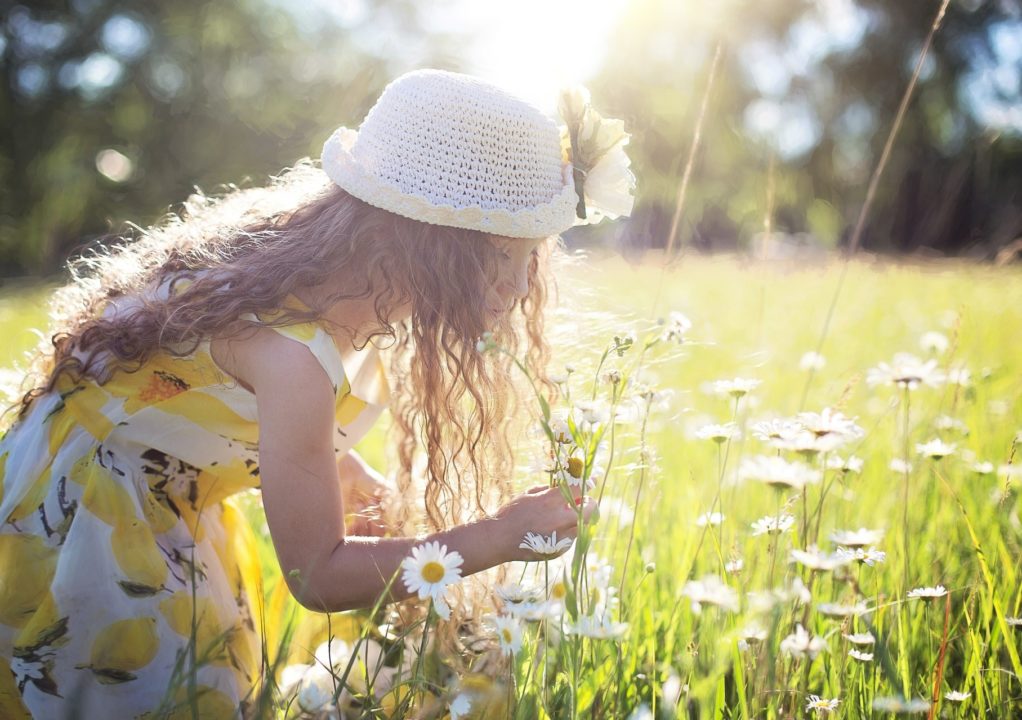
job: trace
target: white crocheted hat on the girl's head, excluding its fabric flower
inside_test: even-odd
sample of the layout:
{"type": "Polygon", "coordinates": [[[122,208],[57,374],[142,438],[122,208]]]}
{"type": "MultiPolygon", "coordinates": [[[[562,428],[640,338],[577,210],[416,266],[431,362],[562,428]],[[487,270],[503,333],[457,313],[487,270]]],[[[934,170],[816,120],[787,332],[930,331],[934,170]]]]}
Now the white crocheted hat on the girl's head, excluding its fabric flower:
{"type": "Polygon", "coordinates": [[[575,221],[557,124],[459,73],[420,69],[392,81],[358,132],[330,136],[322,164],[355,197],[433,225],[541,238],[575,221]]]}

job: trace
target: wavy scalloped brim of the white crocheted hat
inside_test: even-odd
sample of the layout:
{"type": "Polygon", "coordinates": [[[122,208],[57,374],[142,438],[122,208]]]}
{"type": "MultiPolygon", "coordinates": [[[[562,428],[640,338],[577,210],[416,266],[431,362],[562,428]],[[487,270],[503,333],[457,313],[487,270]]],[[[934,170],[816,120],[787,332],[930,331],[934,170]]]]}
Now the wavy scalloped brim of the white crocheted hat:
{"type": "Polygon", "coordinates": [[[478,206],[455,207],[408,195],[393,184],[375,177],[353,154],[358,137],[358,132],[350,128],[335,130],[323,144],[321,163],[330,180],[370,205],[430,225],[466,228],[504,237],[549,237],[575,225],[578,199],[569,162],[561,165],[561,192],[546,204],[514,211],[478,206]]]}

